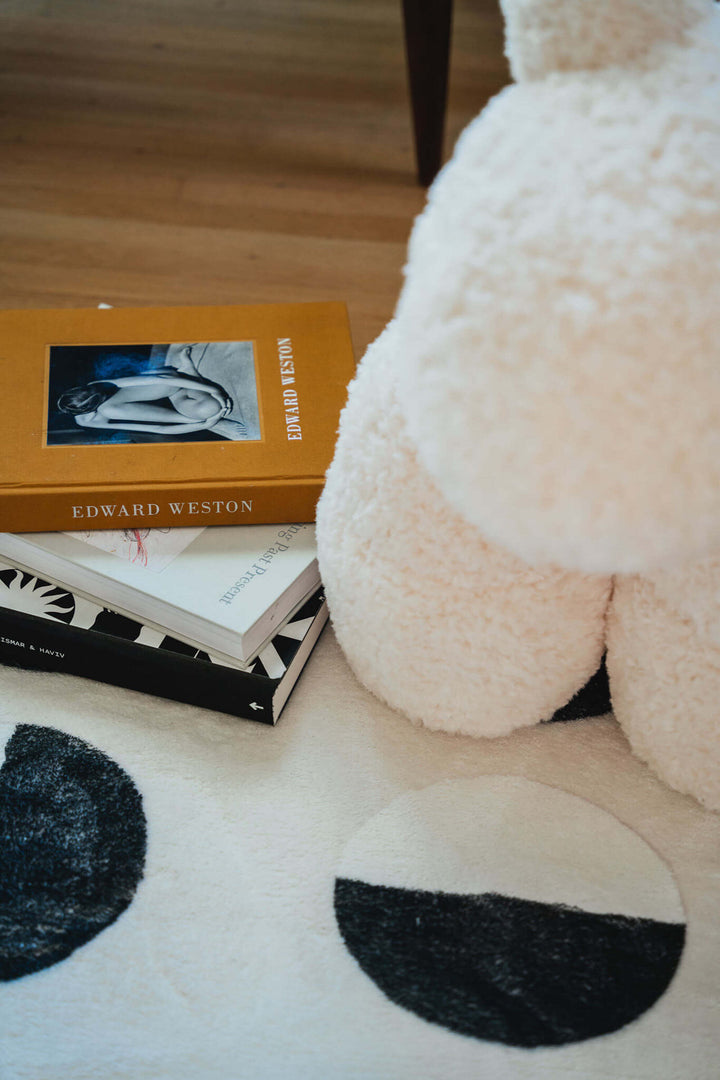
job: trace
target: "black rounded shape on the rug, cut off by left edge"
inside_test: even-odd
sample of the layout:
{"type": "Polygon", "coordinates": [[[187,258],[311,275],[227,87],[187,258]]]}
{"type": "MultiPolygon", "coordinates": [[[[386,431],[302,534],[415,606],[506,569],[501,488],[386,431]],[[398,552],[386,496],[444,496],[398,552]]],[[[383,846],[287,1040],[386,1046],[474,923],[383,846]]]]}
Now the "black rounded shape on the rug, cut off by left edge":
{"type": "Polygon", "coordinates": [[[0,768],[0,980],[64,960],[118,918],[142,877],[142,800],[63,731],[19,725],[0,768]]]}

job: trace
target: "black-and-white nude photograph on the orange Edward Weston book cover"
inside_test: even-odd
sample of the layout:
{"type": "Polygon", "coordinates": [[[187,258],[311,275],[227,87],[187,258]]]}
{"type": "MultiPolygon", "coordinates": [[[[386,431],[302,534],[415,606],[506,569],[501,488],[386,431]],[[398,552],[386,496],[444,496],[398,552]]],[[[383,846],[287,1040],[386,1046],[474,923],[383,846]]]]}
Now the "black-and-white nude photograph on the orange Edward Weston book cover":
{"type": "Polygon", "coordinates": [[[51,346],[46,445],[258,441],[253,341],[51,346]]]}

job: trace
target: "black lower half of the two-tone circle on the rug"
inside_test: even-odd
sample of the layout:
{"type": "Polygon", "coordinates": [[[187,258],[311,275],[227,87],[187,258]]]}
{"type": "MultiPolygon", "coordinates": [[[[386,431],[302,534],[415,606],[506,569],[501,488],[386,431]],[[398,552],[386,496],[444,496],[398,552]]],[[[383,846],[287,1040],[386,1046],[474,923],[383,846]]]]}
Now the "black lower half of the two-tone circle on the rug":
{"type": "Polygon", "coordinates": [[[348,949],[396,1004],[522,1048],[637,1018],[667,988],[685,936],[683,923],[348,878],[336,881],[335,909],[348,949]]]}

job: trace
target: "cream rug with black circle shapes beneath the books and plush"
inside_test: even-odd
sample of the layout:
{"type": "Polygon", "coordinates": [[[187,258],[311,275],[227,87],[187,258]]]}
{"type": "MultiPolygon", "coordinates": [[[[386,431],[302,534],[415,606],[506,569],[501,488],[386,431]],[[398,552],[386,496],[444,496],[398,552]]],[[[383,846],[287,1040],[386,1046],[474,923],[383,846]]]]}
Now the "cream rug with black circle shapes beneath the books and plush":
{"type": "Polygon", "coordinates": [[[717,1080],[720,815],[612,718],[416,728],[329,627],[276,728],[0,696],[2,1080],[717,1080]]]}

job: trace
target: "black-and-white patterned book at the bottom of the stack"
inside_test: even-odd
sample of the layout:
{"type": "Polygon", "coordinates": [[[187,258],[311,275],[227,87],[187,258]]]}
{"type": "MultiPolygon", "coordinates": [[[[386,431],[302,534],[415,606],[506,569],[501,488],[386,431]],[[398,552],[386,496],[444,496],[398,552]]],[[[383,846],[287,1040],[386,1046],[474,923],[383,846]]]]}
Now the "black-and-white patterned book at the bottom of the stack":
{"type": "Polygon", "coordinates": [[[322,588],[248,664],[154,627],[0,561],[0,662],[275,724],[327,621],[322,588]]]}

